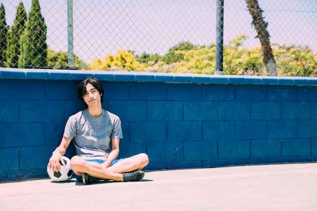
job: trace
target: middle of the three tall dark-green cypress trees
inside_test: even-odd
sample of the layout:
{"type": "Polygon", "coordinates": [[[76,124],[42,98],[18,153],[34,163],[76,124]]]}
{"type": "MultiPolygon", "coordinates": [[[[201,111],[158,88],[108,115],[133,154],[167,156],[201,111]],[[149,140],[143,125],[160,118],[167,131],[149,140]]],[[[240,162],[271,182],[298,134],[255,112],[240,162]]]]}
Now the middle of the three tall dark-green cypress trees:
{"type": "Polygon", "coordinates": [[[26,21],[27,14],[25,12],[23,3],[20,3],[14,19],[14,25],[12,26],[8,34],[7,67],[18,67],[21,49],[21,38],[26,21]]]}

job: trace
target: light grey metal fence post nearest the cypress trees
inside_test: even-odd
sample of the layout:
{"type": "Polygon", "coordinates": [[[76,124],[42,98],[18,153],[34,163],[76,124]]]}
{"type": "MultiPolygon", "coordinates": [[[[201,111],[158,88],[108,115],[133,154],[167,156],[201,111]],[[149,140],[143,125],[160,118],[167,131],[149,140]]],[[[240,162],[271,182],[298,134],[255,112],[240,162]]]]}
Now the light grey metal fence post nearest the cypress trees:
{"type": "Polygon", "coordinates": [[[74,69],[72,0],[67,0],[68,69],[74,69]]]}

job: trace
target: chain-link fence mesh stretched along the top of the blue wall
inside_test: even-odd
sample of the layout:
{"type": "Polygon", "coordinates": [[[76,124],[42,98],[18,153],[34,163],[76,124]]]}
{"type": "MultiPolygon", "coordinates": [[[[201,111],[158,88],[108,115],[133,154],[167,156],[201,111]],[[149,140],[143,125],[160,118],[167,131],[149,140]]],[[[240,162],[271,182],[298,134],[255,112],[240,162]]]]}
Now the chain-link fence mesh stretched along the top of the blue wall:
{"type": "MultiPolygon", "coordinates": [[[[74,68],[214,74],[217,2],[73,0],[74,68]]],[[[68,68],[67,0],[0,3],[0,66],[68,68]]],[[[315,0],[223,3],[224,74],[317,74],[315,0]]]]}

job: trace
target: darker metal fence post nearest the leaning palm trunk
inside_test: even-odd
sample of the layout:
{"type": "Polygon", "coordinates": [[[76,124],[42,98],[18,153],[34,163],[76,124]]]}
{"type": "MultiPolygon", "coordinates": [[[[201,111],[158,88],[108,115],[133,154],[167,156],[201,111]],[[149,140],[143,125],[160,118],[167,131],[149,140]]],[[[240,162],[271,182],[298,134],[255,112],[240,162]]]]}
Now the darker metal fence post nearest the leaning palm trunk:
{"type": "Polygon", "coordinates": [[[223,7],[224,0],[217,0],[216,6],[216,71],[223,75],[223,7]]]}

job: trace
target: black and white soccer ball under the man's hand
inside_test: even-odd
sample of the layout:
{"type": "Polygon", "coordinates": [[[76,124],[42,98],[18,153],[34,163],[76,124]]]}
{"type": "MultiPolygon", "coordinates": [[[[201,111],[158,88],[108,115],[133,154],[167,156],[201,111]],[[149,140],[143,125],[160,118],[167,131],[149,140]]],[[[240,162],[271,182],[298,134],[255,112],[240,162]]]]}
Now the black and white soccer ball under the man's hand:
{"type": "Polygon", "coordinates": [[[60,170],[59,172],[53,172],[53,168],[49,168],[49,164],[47,165],[47,173],[49,177],[55,182],[67,181],[72,176],[72,170],[70,167],[70,160],[68,157],[62,156],[66,165],[62,165],[61,161],[59,161],[60,170]]]}

